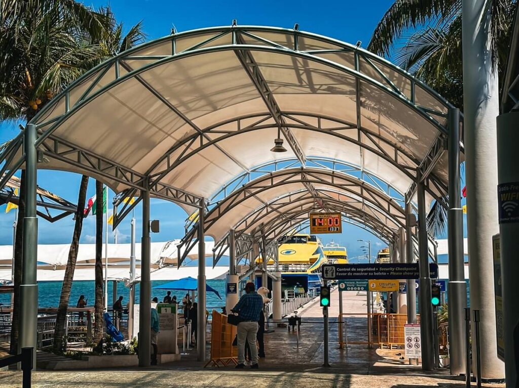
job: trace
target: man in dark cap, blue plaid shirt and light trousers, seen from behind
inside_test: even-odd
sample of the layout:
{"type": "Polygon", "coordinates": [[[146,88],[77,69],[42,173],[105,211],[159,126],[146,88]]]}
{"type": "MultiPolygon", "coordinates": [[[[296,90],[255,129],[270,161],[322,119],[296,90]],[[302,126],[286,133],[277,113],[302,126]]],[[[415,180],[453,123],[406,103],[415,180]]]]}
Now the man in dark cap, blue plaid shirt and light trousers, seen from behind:
{"type": "Polygon", "coordinates": [[[263,298],[255,291],[254,283],[245,285],[243,295],[231,311],[238,313],[241,322],[238,323],[238,365],[236,369],[245,367],[245,341],[249,342],[251,350],[251,369],[258,369],[258,349],[256,347],[256,334],[258,331],[258,320],[263,310],[263,298]]]}

